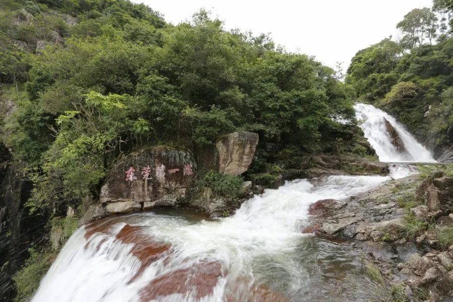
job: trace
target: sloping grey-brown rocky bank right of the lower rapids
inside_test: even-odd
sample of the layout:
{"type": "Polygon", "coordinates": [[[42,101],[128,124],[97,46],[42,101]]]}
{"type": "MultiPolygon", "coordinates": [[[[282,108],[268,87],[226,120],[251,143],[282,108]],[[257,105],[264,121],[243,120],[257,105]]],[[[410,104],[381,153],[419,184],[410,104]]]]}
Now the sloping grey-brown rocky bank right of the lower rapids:
{"type": "Polygon", "coordinates": [[[304,233],[360,247],[410,300],[423,292],[424,300],[445,301],[453,296],[453,246],[441,246],[437,235],[453,224],[446,206],[452,180],[441,172],[424,180],[414,175],[345,200],[319,200],[310,206],[304,233]],[[424,227],[418,236],[408,234],[413,221],[425,223],[418,224],[424,227]]]}

